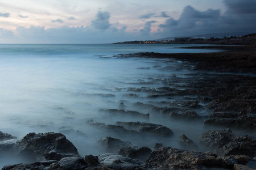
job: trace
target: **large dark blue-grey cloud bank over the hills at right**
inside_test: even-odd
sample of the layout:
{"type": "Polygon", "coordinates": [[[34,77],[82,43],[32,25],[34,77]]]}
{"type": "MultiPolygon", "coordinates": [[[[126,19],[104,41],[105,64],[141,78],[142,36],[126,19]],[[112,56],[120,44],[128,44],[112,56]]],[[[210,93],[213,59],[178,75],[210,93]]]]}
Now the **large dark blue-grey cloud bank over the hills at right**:
{"type": "Polygon", "coordinates": [[[228,10],[222,15],[220,10],[199,11],[191,6],[186,6],[179,19],[167,19],[164,24],[159,25],[158,31],[164,36],[256,31],[256,14],[250,10],[255,2],[226,0],[225,4],[228,10]],[[249,11],[246,12],[246,7],[242,5],[243,2],[246,3],[249,11]]]}

